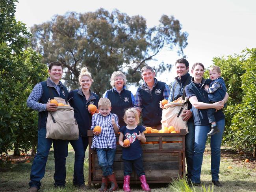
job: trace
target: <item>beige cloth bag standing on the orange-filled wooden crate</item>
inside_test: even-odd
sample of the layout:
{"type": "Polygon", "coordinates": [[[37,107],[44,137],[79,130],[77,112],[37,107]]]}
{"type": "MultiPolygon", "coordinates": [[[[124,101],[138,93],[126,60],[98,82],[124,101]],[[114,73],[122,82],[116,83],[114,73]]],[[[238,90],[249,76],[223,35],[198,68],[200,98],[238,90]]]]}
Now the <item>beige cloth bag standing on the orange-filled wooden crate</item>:
{"type": "Polygon", "coordinates": [[[173,126],[176,132],[180,132],[180,129],[186,129],[186,133],[188,133],[187,129],[187,121],[182,120],[183,111],[187,110],[187,97],[178,98],[177,100],[167,103],[163,107],[163,114],[162,114],[162,128],[173,126]]]}

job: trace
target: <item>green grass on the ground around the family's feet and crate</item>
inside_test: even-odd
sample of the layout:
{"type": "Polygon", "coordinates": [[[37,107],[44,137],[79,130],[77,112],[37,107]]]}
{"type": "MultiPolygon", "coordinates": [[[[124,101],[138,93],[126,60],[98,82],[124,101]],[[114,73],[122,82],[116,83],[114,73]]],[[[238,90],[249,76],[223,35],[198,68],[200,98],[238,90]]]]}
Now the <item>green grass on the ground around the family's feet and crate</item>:
{"type": "MultiPolygon", "coordinates": [[[[88,153],[85,156],[84,175],[85,182],[88,181],[88,153]]],[[[171,184],[150,184],[153,192],[256,192],[256,170],[246,168],[236,164],[230,158],[221,159],[219,178],[223,187],[212,188],[211,172],[210,172],[209,153],[204,154],[204,161],[202,164],[201,182],[203,186],[188,187],[184,179],[173,181],[171,184]],[[232,166],[232,169],[228,169],[232,166]],[[205,189],[204,189],[205,188],[205,189]]],[[[30,170],[32,163],[7,164],[7,171],[0,173],[0,192],[25,192],[28,190],[28,182],[30,181],[30,170]]],[[[67,177],[66,188],[54,188],[54,153],[50,151],[48,161],[46,164],[45,177],[41,180],[41,192],[82,192],[75,188],[72,183],[74,166],[74,151],[72,146],[69,146],[69,155],[67,157],[67,177]]],[[[119,185],[122,187],[122,185],[119,185]]],[[[132,185],[132,191],[141,191],[140,185],[132,185]]],[[[88,192],[98,192],[99,185],[94,187],[91,185],[88,192]]],[[[119,191],[122,191],[120,189],[119,191]]]]}

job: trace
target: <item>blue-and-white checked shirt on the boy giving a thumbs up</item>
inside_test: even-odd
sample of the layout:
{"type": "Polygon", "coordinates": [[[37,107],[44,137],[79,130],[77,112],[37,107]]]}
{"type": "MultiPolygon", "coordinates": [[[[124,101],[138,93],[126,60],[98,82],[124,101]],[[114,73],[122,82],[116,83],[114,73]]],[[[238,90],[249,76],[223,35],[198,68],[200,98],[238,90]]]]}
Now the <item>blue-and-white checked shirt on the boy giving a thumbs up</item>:
{"type": "Polygon", "coordinates": [[[114,127],[112,125],[112,117],[114,117],[115,123],[118,125],[118,116],[114,113],[109,113],[107,116],[102,116],[100,113],[95,113],[91,120],[91,130],[95,126],[101,127],[101,133],[93,137],[93,143],[91,148],[106,149],[111,148],[115,149],[117,147],[117,138],[115,136],[114,127]]]}

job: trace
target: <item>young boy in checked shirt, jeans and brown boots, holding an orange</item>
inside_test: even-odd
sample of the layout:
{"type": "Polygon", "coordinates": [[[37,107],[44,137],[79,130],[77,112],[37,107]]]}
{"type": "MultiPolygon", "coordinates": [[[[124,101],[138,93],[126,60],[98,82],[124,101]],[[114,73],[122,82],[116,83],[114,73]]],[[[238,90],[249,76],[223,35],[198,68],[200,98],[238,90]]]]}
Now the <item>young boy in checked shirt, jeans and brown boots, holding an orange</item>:
{"type": "Polygon", "coordinates": [[[92,117],[91,129],[95,126],[101,127],[101,132],[95,131],[91,148],[95,148],[98,156],[99,165],[102,169],[102,183],[100,191],[108,189],[108,182],[111,183],[109,190],[118,189],[115,174],[113,173],[113,162],[117,139],[115,133],[119,132],[118,116],[110,113],[111,102],[107,98],[100,98],[98,102],[100,113],[95,113],[92,117]]]}

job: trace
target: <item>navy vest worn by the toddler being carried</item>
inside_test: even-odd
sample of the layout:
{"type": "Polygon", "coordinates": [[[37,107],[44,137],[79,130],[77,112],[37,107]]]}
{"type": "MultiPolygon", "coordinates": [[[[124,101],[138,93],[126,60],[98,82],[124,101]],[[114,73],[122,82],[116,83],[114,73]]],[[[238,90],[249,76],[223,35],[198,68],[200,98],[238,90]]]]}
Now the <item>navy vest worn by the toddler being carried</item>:
{"type": "Polygon", "coordinates": [[[208,93],[208,99],[210,102],[219,102],[221,100],[223,100],[225,94],[226,94],[226,85],[224,83],[224,80],[223,78],[218,78],[218,79],[214,79],[211,84],[210,84],[210,87],[211,85],[213,85],[213,83],[215,82],[218,82],[221,84],[221,88],[217,89],[215,92],[213,93],[208,93]]]}

